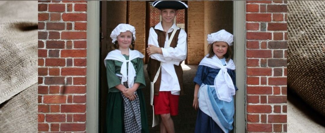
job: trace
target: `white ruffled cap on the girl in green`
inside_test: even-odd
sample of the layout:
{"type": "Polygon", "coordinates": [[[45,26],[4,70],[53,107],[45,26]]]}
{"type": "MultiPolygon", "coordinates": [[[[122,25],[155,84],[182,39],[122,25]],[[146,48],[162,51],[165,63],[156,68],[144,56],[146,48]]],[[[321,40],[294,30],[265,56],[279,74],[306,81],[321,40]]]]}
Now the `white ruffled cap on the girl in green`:
{"type": "Polygon", "coordinates": [[[112,31],[110,34],[110,38],[112,38],[112,43],[117,40],[117,36],[120,35],[121,32],[130,31],[133,34],[133,39],[136,40],[136,28],[132,25],[121,23],[112,31]]]}

